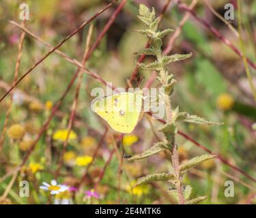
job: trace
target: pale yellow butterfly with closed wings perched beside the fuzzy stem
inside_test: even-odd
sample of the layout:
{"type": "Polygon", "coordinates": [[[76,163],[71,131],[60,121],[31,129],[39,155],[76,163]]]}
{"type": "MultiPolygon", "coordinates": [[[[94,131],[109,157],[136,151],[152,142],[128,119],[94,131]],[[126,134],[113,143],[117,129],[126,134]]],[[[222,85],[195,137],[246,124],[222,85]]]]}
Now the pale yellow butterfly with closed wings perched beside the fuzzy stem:
{"type": "Polygon", "coordinates": [[[141,114],[143,93],[116,93],[92,102],[92,110],[112,129],[123,134],[133,131],[141,114]]]}

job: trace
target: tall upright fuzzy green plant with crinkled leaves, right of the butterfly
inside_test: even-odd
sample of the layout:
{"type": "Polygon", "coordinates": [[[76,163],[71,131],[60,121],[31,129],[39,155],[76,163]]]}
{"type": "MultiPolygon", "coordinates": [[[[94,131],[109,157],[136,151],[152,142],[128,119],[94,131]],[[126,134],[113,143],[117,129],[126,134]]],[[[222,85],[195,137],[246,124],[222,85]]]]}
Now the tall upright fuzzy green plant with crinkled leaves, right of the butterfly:
{"type": "MultiPolygon", "coordinates": [[[[171,110],[171,100],[170,95],[173,93],[174,84],[177,82],[173,77],[173,74],[169,74],[167,69],[165,68],[167,65],[169,65],[172,62],[175,61],[182,61],[184,59],[188,59],[192,56],[192,53],[187,55],[162,55],[162,37],[165,37],[167,33],[170,33],[171,30],[167,29],[165,31],[159,32],[158,31],[158,22],[159,19],[155,19],[155,11],[154,9],[152,12],[150,12],[150,9],[148,9],[145,5],[140,5],[139,7],[139,19],[145,23],[147,26],[147,29],[139,30],[139,32],[146,35],[150,40],[150,47],[149,48],[143,48],[139,54],[143,55],[154,55],[156,56],[156,60],[152,63],[144,64],[139,63],[139,67],[141,69],[146,70],[155,70],[156,72],[159,72],[159,76],[157,77],[158,81],[162,83],[162,88],[165,89],[165,106],[166,106],[166,114],[167,114],[167,123],[160,128],[160,131],[165,135],[164,142],[158,142],[152,148],[145,151],[141,155],[135,155],[130,158],[130,160],[135,159],[142,159],[145,157],[149,157],[150,155],[154,155],[158,153],[159,151],[163,151],[165,149],[169,149],[171,152],[173,150],[173,146],[175,146],[175,135],[177,134],[177,125],[176,121],[182,121],[186,123],[194,123],[194,124],[201,124],[201,125],[221,125],[223,123],[216,123],[212,121],[206,121],[205,119],[197,116],[197,115],[190,115],[187,112],[179,112],[179,107],[175,108],[175,110],[171,110]],[[169,114],[171,113],[171,116],[169,114]],[[166,142],[167,141],[167,142],[166,142]]],[[[180,167],[177,169],[179,172],[178,174],[183,174],[186,172],[186,170],[193,168],[197,166],[199,163],[202,163],[205,160],[214,158],[214,155],[202,155],[200,157],[195,157],[193,159],[190,159],[188,162],[180,165],[180,167]]],[[[177,157],[172,157],[177,158],[177,157]]],[[[174,166],[173,166],[174,167],[174,166]]],[[[152,181],[168,181],[173,180],[175,183],[180,183],[180,178],[176,174],[151,174],[144,176],[142,178],[139,178],[137,181],[137,185],[148,183],[152,181]],[[171,177],[170,177],[171,176],[171,177]]],[[[177,186],[176,186],[177,188],[177,186]]],[[[177,193],[177,189],[170,189],[169,193],[177,202],[180,200],[179,195],[177,193]]],[[[184,199],[187,201],[190,198],[190,194],[192,192],[192,187],[189,185],[186,185],[183,191],[184,199]]],[[[194,200],[190,200],[189,203],[197,203],[200,200],[203,200],[204,197],[196,198],[194,200]]]]}

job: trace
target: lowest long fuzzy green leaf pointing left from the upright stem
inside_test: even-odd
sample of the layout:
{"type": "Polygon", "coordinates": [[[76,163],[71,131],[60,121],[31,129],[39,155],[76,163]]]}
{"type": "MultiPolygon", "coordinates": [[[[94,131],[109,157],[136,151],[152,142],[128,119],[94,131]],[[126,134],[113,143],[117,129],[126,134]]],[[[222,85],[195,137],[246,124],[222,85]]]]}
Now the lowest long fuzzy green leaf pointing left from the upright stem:
{"type": "Polygon", "coordinates": [[[141,178],[138,178],[137,183],[135,185],[142,185],[145,183],[152,183],[154,181],[169,181],[173,180],[174,176],[170,173],[156,173],[156,174],[150,174],[147,176],[143,176],[141,178]]]}

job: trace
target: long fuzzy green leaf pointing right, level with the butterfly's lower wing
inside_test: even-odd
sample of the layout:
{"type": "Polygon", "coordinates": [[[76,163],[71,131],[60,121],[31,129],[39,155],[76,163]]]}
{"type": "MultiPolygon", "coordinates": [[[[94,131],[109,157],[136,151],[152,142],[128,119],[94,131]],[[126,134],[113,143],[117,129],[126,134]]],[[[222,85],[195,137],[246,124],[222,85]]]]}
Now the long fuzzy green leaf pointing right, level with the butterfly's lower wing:
{"type": "Polygon", "coordinates": [[[180,112],[177,116],[176,121],[182,121],[185,123],[195,123],[200,125],[223,125],[223,123],[207,121],[197,115],[190,115],[186,112],[180,112]]]}

